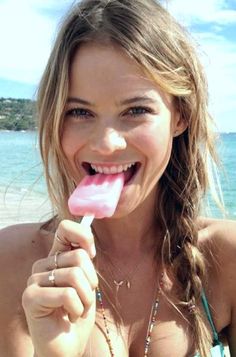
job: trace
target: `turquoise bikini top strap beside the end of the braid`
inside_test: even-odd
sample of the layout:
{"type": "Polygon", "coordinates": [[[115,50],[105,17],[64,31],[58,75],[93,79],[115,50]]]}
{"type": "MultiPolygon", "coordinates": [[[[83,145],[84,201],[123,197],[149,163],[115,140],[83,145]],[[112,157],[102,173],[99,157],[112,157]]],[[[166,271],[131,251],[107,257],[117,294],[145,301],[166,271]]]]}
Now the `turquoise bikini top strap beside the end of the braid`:
{"type": "MultiPolygon", "coordinates": [[[[207,315],[207,319],[210,323],[212,332],[213,332],[213,346],[211,348],[211,357],[224,357],[224,346],[222,344],[222,342],[219,340],[219,336],[218,333],[216,331],[212,316],[211,316],[211,312],[210,312],[210,308],[209,308],[209,304],[206,298],[206,294],[203,291],[202,292],[202,305],[203,308],[205,310],[205,313],[207,315]]],[[[200,357],[199,353],[197,353],[196,355],[194,355],[193,357],[200,357]]]]}

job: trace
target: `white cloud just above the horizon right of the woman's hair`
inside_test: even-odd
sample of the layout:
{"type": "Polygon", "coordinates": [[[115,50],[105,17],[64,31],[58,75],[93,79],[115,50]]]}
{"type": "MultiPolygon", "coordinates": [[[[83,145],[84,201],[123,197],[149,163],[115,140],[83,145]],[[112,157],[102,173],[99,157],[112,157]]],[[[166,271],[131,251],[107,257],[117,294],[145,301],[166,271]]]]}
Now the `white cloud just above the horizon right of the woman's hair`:
{"type": "Polygon", "coordinates": [[[220,131],[236,129],[236,43],[222,36],[199,35],[210,93],[210,109],[220,131]]]}

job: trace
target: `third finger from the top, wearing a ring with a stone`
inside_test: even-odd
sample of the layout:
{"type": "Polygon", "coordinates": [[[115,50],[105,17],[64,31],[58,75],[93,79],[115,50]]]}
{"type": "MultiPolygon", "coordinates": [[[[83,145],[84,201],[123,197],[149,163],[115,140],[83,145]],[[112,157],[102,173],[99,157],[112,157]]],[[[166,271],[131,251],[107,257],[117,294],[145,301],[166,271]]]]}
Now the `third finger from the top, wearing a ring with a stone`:
{"type": "Polygon", "coordinates": [[[76,290],[83,306],[84,313],[87,312],[93,302],[94,289],[91,287],[83,270],[79,267],[64,268],[32,275],[28,280],[29,285],[37,284],[41,287],[72,287],[76,290]],[[50,278],[53,279],[50,281],[50,278]]]}

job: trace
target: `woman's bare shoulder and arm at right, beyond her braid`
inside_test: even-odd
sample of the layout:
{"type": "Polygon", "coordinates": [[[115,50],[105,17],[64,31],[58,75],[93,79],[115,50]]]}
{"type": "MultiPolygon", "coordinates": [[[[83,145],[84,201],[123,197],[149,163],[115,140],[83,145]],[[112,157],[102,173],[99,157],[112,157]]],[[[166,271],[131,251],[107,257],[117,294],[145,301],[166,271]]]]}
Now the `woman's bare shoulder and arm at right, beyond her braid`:
{"type": "Polygon", "coordinates": [[[202,219],[199,240],[209,270],[208,293],[216,324],[224,327],[230,352],[236,356],[236,221],[202,219]]]}

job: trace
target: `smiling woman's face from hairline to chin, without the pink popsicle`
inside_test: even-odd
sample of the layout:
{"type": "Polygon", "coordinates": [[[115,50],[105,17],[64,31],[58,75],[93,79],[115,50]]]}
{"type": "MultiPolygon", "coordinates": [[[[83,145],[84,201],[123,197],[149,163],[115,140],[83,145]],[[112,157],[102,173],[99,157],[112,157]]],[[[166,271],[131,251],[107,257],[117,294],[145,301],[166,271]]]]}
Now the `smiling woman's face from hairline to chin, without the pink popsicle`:
{"type": "Polygon", "coordinates": [[[170,96],[120,48],[90,43],[77,51],[62,147],[76,183],[94,171],[126,171],[116,216],[154,204],[181,125],[170,96]]]}

